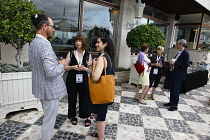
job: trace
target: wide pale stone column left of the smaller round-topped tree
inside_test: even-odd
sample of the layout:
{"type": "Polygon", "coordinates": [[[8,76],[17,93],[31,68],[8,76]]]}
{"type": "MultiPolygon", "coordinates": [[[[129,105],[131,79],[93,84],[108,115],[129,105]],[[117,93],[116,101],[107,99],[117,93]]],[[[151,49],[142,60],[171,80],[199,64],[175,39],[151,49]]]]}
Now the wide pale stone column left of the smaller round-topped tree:
{"type": "Polygon", "coordinates": [[[135,0],[121,0],[119,12],[119,26],[117,34],[117,45],[115,55],[115,67],[129,68],[130,67],[130,48],[126,44],[128,22],[133,22],[134,9],[133,4],[135,0]]]}

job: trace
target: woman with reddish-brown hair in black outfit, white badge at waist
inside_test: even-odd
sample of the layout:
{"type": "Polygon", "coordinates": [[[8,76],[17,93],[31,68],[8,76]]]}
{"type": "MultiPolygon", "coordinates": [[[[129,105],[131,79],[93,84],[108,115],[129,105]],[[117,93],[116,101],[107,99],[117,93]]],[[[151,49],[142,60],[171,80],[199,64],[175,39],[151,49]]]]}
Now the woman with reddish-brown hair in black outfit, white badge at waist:
{"type": "Polygon", "coordinates": [[[89,94],[88,89],[88,73],[92,63],[91,55],[86,51],[87,43],[84,36],[75,37],[74,51],[66,56],[65,70],[69,71],[66,79],[66,87],[68,92],[68,118],[71,119],[73,125],[77,125],[76,103],[77,93],[79,93],[79,117],[86,118],[85,126],[91,124],[90,114],[84,112],[85,97],[89,94]]]}

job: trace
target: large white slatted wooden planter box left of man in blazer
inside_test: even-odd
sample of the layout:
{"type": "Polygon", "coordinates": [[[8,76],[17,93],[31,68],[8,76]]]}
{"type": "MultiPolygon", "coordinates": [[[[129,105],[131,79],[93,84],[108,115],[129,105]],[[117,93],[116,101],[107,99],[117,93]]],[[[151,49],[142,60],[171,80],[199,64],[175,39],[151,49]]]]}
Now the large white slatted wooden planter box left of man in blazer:
{"type": "Polygon", "coordinates": [[[40,101],[32,94],[32,73],[1,73],[0,118],[9,112],[29,108],[42,110],[40,101]]]}

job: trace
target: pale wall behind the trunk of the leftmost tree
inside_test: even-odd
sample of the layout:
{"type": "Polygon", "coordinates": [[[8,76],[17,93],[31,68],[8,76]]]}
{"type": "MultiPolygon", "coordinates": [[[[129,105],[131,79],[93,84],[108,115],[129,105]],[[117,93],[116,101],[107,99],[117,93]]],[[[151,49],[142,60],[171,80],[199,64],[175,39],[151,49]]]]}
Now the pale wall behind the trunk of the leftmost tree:
{"type": "MultiPolygon", "coordinates": [[[[15,55],[17,53],[16,49],[13,48],[10,44],[9,45],[5,45],[4,43],[0,43],[0,48],[1,48],[1,63],[7,63],[7,64],[17,64],[16,60],[15,60],[15,55]]],[[[29,58],[28,58],[28,48],[29,48],[29,43],[27,43],[24,47],[23,47],[23,51],[22,51],[22,56],[21,56],[21,60],[23,62],[28,62],[29,58]]]]}

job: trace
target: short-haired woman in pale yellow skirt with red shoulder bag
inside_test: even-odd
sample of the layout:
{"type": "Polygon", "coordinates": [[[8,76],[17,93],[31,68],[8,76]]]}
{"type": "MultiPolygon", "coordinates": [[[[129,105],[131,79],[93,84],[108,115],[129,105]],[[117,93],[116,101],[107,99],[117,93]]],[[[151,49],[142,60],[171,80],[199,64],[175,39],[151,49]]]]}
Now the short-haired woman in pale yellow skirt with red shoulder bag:
{"type": "Polygon", "coordinates": [[[141,51],[138,55],[138,61],[144,66],[144,71],[139,75],[138,85],[136,87],[136,94],[134,97],[134,100],[139,101],[140,104],[146,105],[143,101],[144,96],[149,91],[149,73],[150,73],[150,66],[151,63],[150,59],[147,57],[147,52],[149,50],[149,46],[147,44],[143,44],[141,46],[141,51]],[[140,88],[144,86],[144,89],[142,91],[142,94],[140,98],[138,97],[140,88]]]}

